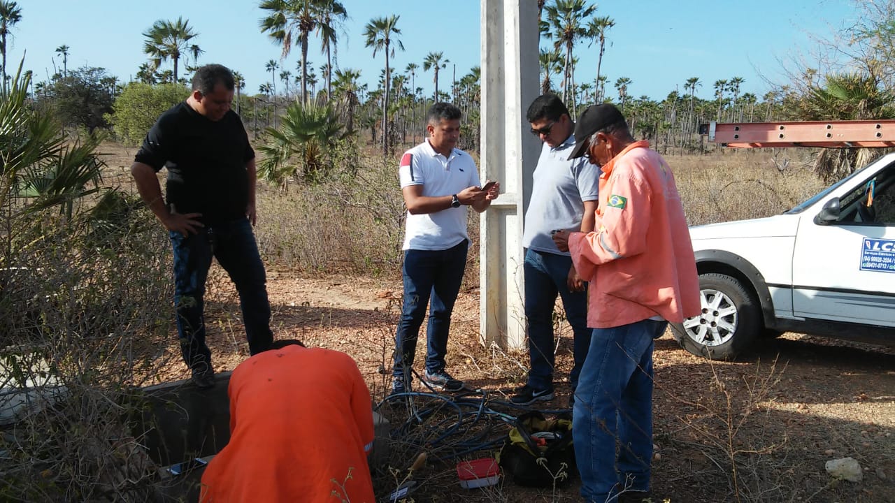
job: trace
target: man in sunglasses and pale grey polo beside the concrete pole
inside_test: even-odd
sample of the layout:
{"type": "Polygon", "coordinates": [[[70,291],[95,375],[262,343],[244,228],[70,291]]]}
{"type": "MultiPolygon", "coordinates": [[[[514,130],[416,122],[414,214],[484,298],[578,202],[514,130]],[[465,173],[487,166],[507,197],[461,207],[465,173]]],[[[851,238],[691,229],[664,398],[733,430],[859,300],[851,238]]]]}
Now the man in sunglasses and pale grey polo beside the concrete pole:
{"type": "Polygon", "coordinates": [[[575,274],[568,252],[560,252],[551,234],[557,230],[591,232],[597,209],[600,169],[586,159],[568,160],[575,148],[575,124],[568,109],[555,94],[545,94],[532,102],[525,117],[532,133],[544,142],[534,169],[532,199],[525,210],[523,246],[526,249],[525,320],[531,368],[528,380],[510,401],[529,405],[553,399],[553,367],[556,347],[553,334],[553,306],[562,298],[566,319],[572,326],[572,354],[575,364],[569,374],[575,400],[578,374],[591,345],[587,328],[587,292],[575,274]]]}

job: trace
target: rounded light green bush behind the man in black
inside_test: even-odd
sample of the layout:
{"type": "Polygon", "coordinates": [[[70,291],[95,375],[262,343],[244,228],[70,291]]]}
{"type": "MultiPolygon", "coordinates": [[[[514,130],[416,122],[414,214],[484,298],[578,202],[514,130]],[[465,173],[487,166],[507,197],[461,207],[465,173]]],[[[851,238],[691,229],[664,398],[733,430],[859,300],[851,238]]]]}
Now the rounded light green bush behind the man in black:
{"type": "Polygon", "coordinates": [[[190,96],[190,90],[180,84],[131,82],[115,98],[111,122],[115,136],[126,145],[139,145],[158,115],[190,96]]]}

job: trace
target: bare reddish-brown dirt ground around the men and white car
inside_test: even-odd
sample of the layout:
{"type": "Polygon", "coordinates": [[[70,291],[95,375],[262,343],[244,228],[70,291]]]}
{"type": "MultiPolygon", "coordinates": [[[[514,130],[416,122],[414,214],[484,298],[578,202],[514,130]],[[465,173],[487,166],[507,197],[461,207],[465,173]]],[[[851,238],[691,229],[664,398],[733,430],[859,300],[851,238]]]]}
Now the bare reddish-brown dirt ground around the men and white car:
{"type": "MultiPolygon", "coordinates": [[[[219,282],[209,319],[220,320],[209,342],[218,371],[247,357],[235,295],[219,282]]],[[[354,356],[374,401],[385,395],[400,310],[400,282],[383,278],[294,277],[269,273],[277,337],[354,356]]],[[[479,343],[478,292],[458,299],[448,367],[457,378],[503,398],[524,380],[527,357],[479,343]]],[[[557,398],[567,404],[571,329],[558,327],[557,398]]],[[[421,352],[424,351],[424,344],[421,352]]],[[[422,354],[422,353],[420,353],[422,354]]],[[[891,502],[895,495],[895,350],[785,334],[763,342],[741,362],[707,362],[666,334],[655,354],[655,496],[678,501],[736,501],[731,453],[741,501],[891,502]],[[863,482],[831,482],[826,461],[850,456],[863,482]]],[[[417,358],[418,369],[422,356],[417,358]]],[[[183,373],[175,364],[172,372],[183,373]]],[[[177,379],[182,379],[178,376],[177,379]]],[[[402,418],[395,418],[400,421],[402,418]]],[[[487,453],[480,453],[480,456],[487,453]]],[[[395,463],[399,463],[396,461],[395,463]]],[[[409,462],[408,462],[409,463],[409,462]]],[[[406,468],[406,466],[404,467],[406,468]]],[[[579,501],[577,483],[565,490],[464,491],[453,465],[418,473],[422,501],[579,501]],[[453,474],[452,474],[453,473],[453,474]]],[[[394,485],[380,477],[379,488],[394,485]]],[[[661,499],[653,499],[661,501],[661,499]]]]}

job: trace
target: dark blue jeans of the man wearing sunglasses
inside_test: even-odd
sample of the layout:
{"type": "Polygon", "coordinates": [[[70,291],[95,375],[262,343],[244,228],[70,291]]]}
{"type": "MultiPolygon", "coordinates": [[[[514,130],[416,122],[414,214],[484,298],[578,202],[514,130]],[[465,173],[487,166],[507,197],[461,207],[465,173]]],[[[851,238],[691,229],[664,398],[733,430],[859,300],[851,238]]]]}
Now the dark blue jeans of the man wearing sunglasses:
{"type": "Polygon", "coordinates": [[[525,319],[528,320],[528,354],[532,368],[528,385],[535,389],[553,387],[553,306],[557,295],[562,298],[566,319],[572,326],[575,366],[569,379],[572,391],[578,386],[578,375],[591,345],[591,329],[587,328],[587,292],[568,289],[568,270],[572,258],[556,253],[525,252],[525,319]]]}

